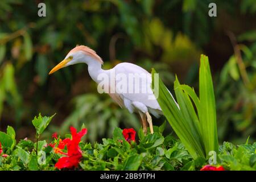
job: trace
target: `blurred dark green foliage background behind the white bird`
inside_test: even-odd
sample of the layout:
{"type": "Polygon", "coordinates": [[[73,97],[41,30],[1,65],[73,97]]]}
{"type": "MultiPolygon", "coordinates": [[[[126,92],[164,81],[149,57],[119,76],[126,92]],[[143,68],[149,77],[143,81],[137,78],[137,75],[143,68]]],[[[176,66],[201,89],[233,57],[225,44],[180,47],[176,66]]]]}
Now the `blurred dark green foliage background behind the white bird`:
{"type": "MultiPolygon", "coordinates": [[[[88,128],[91,142],[115,126],[141,126],[135,114],[98,94],[85,64],[48,76],[76,44],[96,50],[109,69],[122,61],[155,68],[173,92],[175,74],[197,91],[200,54],[209,56],[220,142],[256,138],[256,1],[0,1],[0,130],[34,138],[31,120],[52,115],[49,137],[88,128]],[[46,17],[38,4],[46,4],[46,17]],[[217,17],[208,16],[209,3],[217,17]]],[[[153,118],[160,125],[164,117],[153,118]]],[[[171,127],[166,128],[170,133],[171,127]]]]}

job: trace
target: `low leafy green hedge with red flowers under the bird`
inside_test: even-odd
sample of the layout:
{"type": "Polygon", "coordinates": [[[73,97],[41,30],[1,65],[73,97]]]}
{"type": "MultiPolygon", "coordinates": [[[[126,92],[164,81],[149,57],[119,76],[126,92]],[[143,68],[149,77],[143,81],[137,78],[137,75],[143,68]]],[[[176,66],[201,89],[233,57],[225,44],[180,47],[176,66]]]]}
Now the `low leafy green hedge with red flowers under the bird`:
{"type": "MultiPolygon", "coordinates": [[[[35,120],[41,123],[38,129],[43,130],[46,126],[43,123],[51,121],[51,117],[40,117],[39,115],[38,118],[34,119],[34,123],[35,120]]],[[[100,143],[80,142],[79,147],[82,155],[79,158],[79,164],[70,169],[199,170],[208,163],[201,157],[193,159],[184,145],[172,135],[163,137],[165,125],[164,122],[160,127],[154,126],[155,133],[146,136],[140,129],[137,141],[127,142],[123,137],[122,130],[115,128],[113,137],[104,138],[100,143]]],[[[65,135],[66,139],[63,140],[54,134],[53,141],[39,140],[36,144],[27,138],[19,140],[19,142],[16,141],[15,131],[13,127],[9,126],[6,133],[0,133],[0,170],[58,170],[58,162],[61,158],[66,158],[64,152],[67,150],[69,152],[70,149],[63,147],[64,152],[60,152],[52,144],[58,143],[58,147],[60,147],[62,141],[75,140],[79,133],[76,134],[75,130],[72,137],[71,134],[67,134],[65,135]]],[[[84,134],[85,132],[82,135],[84,134]]],[[[224,142],[220,146],[216,166],[221,165],[225,170],[255,170],[255,150],[256,143],[249,144],[248,140],[239,146],[224,142]]]]}

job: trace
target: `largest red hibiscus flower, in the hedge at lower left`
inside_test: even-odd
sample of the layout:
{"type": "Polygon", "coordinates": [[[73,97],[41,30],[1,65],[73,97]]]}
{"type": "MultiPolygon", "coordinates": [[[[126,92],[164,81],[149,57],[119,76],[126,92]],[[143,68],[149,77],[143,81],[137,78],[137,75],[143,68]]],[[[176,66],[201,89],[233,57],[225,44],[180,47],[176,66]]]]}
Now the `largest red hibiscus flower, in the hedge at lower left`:
{"type": "Polygon", "coordinates": [[[82,129],[79,133],[76,133],[74,127],[70,128],[72,139],[66,138],[63,141],[60,140],[58,147],[55,148],[55,152],[66,155],[58,160],[55,167],[58,169],[77,167],[80,159],[82,158],[82,151],[79,147],[82,136],[87,133],[87,129],[82,129]],[[68,152],[64,153],[61,149],[67,145],[68,152]]]}

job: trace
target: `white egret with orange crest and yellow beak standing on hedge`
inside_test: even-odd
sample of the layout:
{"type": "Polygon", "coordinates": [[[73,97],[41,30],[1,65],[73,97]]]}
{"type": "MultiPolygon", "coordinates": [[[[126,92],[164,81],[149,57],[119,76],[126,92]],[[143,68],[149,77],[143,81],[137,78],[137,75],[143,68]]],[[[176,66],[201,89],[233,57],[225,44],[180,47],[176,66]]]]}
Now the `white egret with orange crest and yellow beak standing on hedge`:
{"type": "Polygon", "coordinates": [[[86,46],[76,46],[69,51],[63,61],[49,72],[49,75],[61,68],[77,63],[88,65],[90,77],[98,85],[101,85],[105,92],[119,106],[126,107],[130,113],[139,113],[142,119],[144,133],[147,133],[147,122],[150,126],[150,132],[154,133],[150,113],[158,118],[162,114],[162,109],[152,92],[150,73],[138,65],[131,63],[119,63],[112,69],[104,70],[101,68],[103,64],[101,57],[93,49],[86,46]],[[134,83],[134,81],[131,82],[130,77],[136,77],[136,75],[139,76],[139,83],[138,81],[137,83],[134,83]],[[102,82],[102,78],[106,77],[108,79],[102,82]],[[143,89],[146,89],[146,93],[143,89]]]}

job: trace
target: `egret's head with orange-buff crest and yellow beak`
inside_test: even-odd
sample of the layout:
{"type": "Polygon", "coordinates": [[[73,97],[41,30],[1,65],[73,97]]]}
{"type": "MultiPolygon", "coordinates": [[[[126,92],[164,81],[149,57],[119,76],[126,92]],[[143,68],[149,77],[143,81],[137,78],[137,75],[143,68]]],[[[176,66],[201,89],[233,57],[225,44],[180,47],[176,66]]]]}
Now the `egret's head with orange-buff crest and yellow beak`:
{"type": "Polygon", "coordinates": [[[77,63],[86,63],[86,64],[93,64],[93,63],[100,63],[103,64],[103,61],[100,56],[97,55],[93,49],[87,46],[76,46],[73,48],[65,59],[61,61],[56,67],[52,68],[49,72],[49,75],[58,71],[61,68],[68,67],[69,65],[77,64],[77,63]]]}

